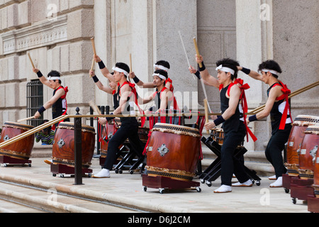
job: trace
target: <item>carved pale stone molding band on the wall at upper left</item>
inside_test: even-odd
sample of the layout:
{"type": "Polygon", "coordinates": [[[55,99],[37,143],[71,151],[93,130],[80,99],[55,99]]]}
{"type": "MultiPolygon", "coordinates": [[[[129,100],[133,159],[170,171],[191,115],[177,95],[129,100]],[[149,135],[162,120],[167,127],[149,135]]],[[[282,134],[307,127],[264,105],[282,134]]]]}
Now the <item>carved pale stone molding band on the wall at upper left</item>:
{"type": "Polygon", "coordinates": [[[1,35],[4,55],[67,40],[67,16],[1,35]]]}

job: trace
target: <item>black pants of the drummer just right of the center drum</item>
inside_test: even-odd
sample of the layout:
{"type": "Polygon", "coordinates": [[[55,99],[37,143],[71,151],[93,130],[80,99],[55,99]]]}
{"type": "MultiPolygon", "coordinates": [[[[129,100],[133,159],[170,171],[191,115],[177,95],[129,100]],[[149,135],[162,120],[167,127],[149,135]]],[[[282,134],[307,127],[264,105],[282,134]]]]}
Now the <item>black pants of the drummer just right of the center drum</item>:
{"type": "Polygon", "coordinates": [[[235,150],[244,140],[246,128],[244,123],[240,123],[238,131],[225,133],[224,143],[221,148],[221,184],[232,185],[233,174],[240,183],[247,182],[248,175],[245,172],[243,157],[235,158],[235,150]]]}

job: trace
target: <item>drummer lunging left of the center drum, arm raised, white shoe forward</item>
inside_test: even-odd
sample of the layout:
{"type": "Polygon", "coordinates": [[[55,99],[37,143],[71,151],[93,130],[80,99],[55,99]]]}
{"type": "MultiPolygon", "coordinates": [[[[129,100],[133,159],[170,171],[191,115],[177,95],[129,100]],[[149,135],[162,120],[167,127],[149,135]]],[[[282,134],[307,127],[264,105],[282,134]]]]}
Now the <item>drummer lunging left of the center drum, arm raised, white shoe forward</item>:
{"type": "MultiPolygon", "coordinates": [[[[112,75],[106,66],[103,64],[98,56],[95,56],[96,62],[99,63],[99,67],[104,77],[108,80],[118,83],[118,91],[116,96],[115,111],[113,114],[133,114],[135,115],[134,106],[132,103],[136,103],[135,96],[136,90],[133,84],[130,84],[127,80],[130,68],[124,63],[116,63],[113,68],[114,74],[112,75]]],[[[138,105],[138,104],[137,104],[138,105]]],[[[106,124],[107,121],[111,121],[113,118],[99,118],[99,123],[106,124]]],[[[113,164],[116,161],[116,154],[118,153],[118,147],[124,143],[128,138],[132,149],[140,156],[142,156],[143,145],[138,137],[138,121],[135,117],[121,118],[121,128],[116,131],[111,140],[108,142],[108,155],[103,165],[103,169],[94,178],[109,178],[110,170],[113,168],[113,164]]]]}

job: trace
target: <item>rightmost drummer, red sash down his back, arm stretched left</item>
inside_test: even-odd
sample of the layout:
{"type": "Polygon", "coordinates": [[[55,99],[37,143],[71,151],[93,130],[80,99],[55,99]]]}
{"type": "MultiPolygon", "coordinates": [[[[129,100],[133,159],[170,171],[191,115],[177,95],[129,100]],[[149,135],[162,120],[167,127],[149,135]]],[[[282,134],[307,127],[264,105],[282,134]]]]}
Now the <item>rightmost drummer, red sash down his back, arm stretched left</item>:
{"type": "Polygon", "coordinates": [[[265,150],[265,155],[267,160],[273,165],[276,173],[276,182],[270,184],[270,187],[282,187],[282,175],[286,174],[287,170],[281,153],[289,139],[292,128],[291,123],[293,122],[288,99],[291,92],[286,87],[286,84],[283,84],[278,79],[281,68],[274,60],[262,62],[259,65],[260,74],[245,67],[238,67],[238,70],[242,70],[250,77],[269,85],[267,91],[268,99],[264,110],[247,118],[247,123],[261,120],[270,115],[272,137],[265,150]]]}

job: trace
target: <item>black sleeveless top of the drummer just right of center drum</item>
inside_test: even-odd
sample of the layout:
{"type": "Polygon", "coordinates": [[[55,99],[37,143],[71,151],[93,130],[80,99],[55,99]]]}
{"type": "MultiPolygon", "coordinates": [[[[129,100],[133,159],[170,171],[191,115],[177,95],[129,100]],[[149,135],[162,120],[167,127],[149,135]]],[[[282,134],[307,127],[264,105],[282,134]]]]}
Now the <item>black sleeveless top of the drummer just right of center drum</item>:
{"type": "MultiPolygon", "coordinates": [[[[220,109],[222,111],[222,114],[224,114],[226,109],[228,109],[229,107],[229,99],[226,96],[229,86],[230,85],[220,90],[220,109]]],[[[242,123],[240,121],[240,118],[241,114],[238,103],[235,114],[231,116],[227,121],[225,121],[225,123],[223,123],[223,131],[225,133],[229,133],[230,131],[238,131],[240,123],[242,123]]]]}

